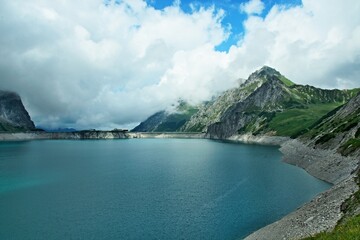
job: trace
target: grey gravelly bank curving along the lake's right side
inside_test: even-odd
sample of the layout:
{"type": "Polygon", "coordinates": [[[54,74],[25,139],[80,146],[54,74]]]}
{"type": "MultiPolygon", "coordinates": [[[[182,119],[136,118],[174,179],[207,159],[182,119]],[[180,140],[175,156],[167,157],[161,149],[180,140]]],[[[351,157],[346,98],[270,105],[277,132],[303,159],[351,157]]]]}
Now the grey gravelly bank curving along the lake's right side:
{"type": "Polygon", "coordinates": [[[301,239],[331,231],[343,216],[341,206],[345,200],[359,190],[354,174],[359,165],[356,157],[344,157],[335,150],[314,149],[296,139],[283,142],[280,151],[284,162],[301,167],[312,176],[334,185],[245,240],[301,239]]]}

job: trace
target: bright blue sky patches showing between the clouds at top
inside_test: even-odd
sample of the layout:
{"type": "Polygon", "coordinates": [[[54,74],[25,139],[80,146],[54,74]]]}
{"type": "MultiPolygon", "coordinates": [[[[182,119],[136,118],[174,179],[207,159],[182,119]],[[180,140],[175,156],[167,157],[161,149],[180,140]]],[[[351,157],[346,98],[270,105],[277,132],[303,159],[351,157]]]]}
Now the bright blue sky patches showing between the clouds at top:
{"type": "MultiPolygon", "coordinates": [[[[225,11],[225,15],[222,21],[224,27],[231,26],[231,34],[229,38],[216,46],[218,51],[228,51],[232,45],[236,43],[244,35],[244,26],[243,22],[248,18],[248,15],[245,12],[241,12],[240,5],[246,4],[248,0],[182,0],[180,1],[181,9],[191,14],[191,6],[196,6],[196,8],[205,7],[209,8],[214,6],[216,9],[222,9],[225,11]]],[[[270,9],[275,5],[283,5],[284,7],[293,7],[296,5],[301,5],[301,0],[264,0],[264,10],[258,16],[265,17],[270,9]]],[[[173,5],[173,0],[147,0],[147,3],[150,6],[153,6],[156,9],[162,10],[168,6],[173,5]]]]}

